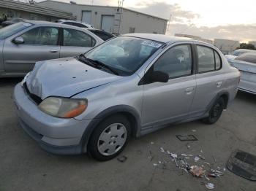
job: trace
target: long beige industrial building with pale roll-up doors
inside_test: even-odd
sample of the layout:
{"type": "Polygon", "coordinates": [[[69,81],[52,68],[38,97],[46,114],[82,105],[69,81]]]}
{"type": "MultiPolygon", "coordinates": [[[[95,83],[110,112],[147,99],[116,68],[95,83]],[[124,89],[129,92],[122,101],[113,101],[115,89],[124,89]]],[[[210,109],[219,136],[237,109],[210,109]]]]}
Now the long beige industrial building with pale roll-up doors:
{"type": "Polygon", "coordinates": [[[89,23],[94,28],[110,33],[154,33],[165,34],[167,19],[147,15],[131,9],[88,4],[41,1],[37,5],[72,12],[76,20],[89,23]]]}

